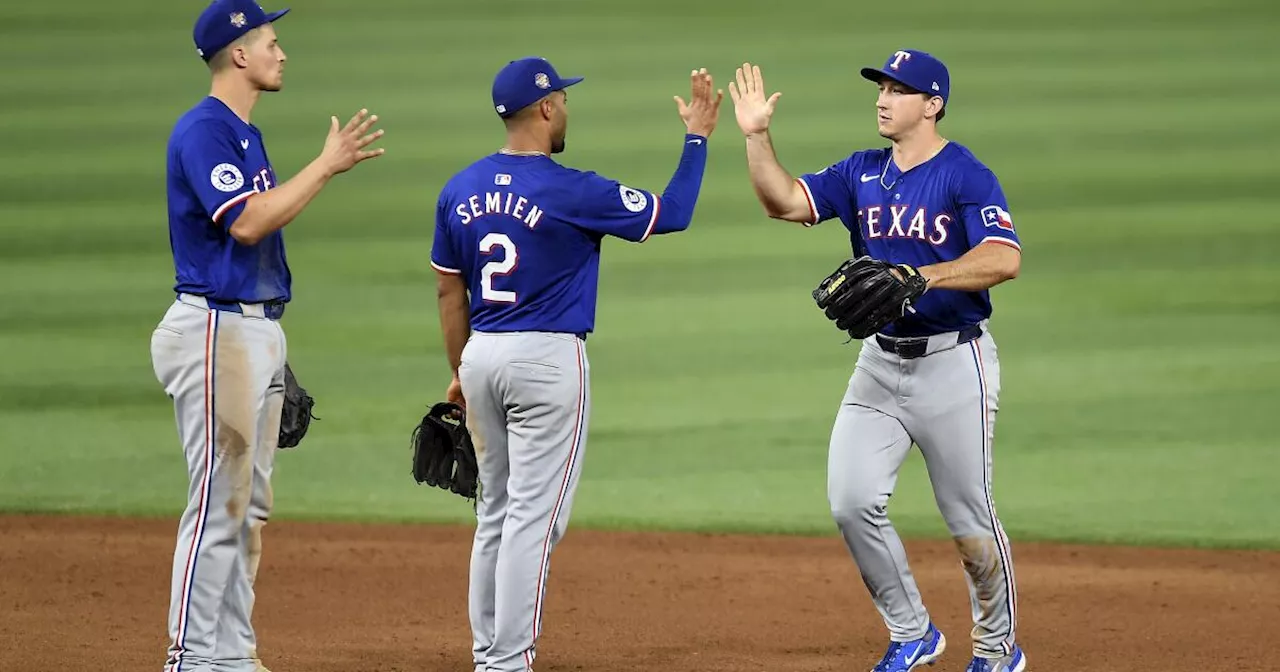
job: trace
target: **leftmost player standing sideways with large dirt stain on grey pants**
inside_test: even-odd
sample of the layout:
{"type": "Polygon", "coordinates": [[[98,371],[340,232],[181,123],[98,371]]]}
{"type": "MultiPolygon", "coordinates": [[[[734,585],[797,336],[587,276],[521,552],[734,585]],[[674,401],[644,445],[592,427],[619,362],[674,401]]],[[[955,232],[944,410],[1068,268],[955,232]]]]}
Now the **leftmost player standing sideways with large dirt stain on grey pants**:
{"type": "Polygon", "coordinates": [[[155,375],[173,398],[187,457],[169,598],[172,672],[262,669],[250,617],[280,426],[291,298],[280,229],[334,175],[381,148],[378,119],[330,119],[324,150],[278,183],[250,114],[279,91],[284,51],[253,0],[214,0],[196,19],[210,95],[184,113],[168,146],[169,242],[177,300],[151,335],[155,375]]]}

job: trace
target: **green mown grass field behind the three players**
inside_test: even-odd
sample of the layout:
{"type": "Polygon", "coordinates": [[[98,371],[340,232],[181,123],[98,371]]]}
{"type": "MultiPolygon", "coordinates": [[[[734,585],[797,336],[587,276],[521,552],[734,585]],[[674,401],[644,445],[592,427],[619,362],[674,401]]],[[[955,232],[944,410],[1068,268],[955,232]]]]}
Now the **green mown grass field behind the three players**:
{"type": "MultiPolygon", "coordinates": [[[[207,91],[201,6],[0,6],[0,509],[182,508],[148,335],[173,298],[164,146],[207,91]]],[[[279,457],[280,517],[470,516],[412,483],[408,431],[448,381],[435,197],[500,146],[489,84],[507,60],[586,76],[564,164],[660,191],[691,68],[723,86],[760,64],[783,91],[780,156],[800,173],[882,142],[856,69],[915,46],[951,67],[942,132],[1001,177],[1024,241],[992,323],[1010,534],[1280,548],[1274,3],[292,6],[285,90],[255,113],[276,172],[361,106],[388,152],[287,232],[289,355],[323,420],[279,457]]],[[[838,221],[763,216],[726,92],[692,228],[605,246],[575,525],[832,532],[827,436],[856,349],[809,291],[846,241],[838,221]]],[[[916,453],[891,512],[904,534],[945,532],[916,453]]]]}

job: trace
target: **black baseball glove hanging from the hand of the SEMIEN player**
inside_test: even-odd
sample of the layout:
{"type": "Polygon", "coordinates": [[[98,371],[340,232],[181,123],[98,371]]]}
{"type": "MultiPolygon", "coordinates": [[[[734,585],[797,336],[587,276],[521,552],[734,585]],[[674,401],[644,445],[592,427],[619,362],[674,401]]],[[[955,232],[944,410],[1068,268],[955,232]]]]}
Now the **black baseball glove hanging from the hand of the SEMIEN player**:
{"type": "Polygon", "coordinates": [[[440,402],[413,428],[413,480],[466,499],[476,498],[479,467],[462,407],[440,402]]]}

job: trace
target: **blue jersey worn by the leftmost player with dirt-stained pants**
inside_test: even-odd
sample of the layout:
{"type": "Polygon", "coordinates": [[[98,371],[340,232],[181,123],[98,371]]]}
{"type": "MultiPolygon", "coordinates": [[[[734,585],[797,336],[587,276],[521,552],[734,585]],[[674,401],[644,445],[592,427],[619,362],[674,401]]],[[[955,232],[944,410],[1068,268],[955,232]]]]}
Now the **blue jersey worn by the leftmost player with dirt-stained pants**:
{"type": "Polygon", "coordinates": [[[169,136],[169,246],[175,292],[259,303],[291,298],[284,236],[257,244],[232,238],[244,201],[275,186],[262,134],[223,101],[207,96],[169,136]]]}

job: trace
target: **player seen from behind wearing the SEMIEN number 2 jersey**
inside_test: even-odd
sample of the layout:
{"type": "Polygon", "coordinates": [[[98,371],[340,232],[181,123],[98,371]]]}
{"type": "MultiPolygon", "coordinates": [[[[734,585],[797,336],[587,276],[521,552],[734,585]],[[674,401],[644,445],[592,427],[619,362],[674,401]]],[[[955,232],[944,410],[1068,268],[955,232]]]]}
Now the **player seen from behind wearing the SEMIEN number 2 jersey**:
{"type": "Polygon", "coordinates": [[[568,525],[591,410],[585,340],[595,328],[600,246],[685,230],[723,92],[707,70],[676,96],[684,154],[667,189],[562,166],[564,78],[544,59],[493,82],[507,143],[444,186],[431,266],[453,381],[479,458],[470,616],[477,672],[531,671],[552,550],[568,525]]]}

